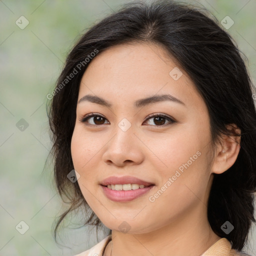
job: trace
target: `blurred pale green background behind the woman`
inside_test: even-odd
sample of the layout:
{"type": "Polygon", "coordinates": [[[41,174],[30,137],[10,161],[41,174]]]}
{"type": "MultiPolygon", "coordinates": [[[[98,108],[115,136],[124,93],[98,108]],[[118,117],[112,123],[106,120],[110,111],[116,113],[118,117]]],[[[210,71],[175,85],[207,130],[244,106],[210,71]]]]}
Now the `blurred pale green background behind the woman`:
{"type": "MultiPolygon", "coordinates": [[[[61,244],[53,239],[54,217],[65,205],[53,187],[52,166],[44,168],[51,147],[46,95],[74,41],[124,2],[0,0],[0,255],[73,255],[97,242],[86,227],[65,228],[61,244]]],[[[234,21],[226,30],[247,56],[255,84],[256,0],[187,2],[205,6],[219,21],[227,15],[234,21]]],[[[256,255],[255,226],[249,241],[246,249],[256,255]]]]}

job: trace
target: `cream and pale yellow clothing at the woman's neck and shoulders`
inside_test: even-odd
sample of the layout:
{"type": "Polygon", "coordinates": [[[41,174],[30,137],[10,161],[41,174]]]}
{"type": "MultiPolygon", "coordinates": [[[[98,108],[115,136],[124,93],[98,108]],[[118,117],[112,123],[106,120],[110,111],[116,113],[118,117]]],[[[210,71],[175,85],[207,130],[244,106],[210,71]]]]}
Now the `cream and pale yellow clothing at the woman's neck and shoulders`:
{"type": "MultiPolygon", "coordinates": [[[[111,240],[111,235],[106,236],[90,249],[74,256],[102,256],[104,249],[111,240]]],[[[231,243],[226,238],[221,238],[212,244],[201,256],[250,256],[243,251],[231,249],[231,243]]]]}

